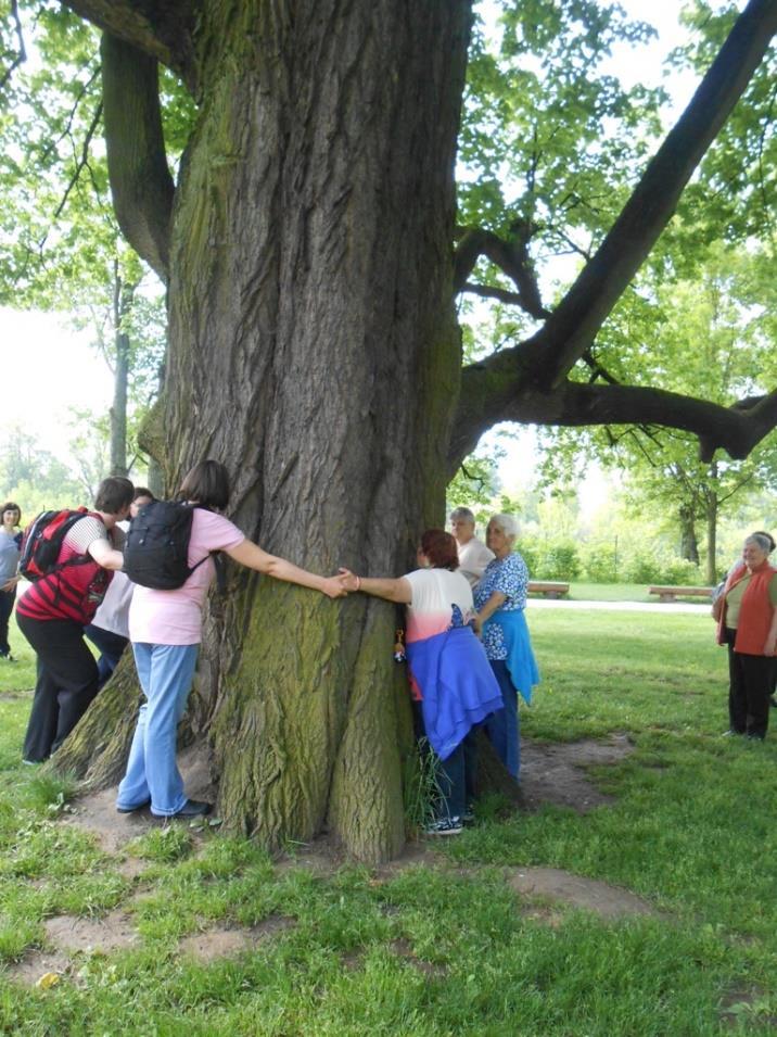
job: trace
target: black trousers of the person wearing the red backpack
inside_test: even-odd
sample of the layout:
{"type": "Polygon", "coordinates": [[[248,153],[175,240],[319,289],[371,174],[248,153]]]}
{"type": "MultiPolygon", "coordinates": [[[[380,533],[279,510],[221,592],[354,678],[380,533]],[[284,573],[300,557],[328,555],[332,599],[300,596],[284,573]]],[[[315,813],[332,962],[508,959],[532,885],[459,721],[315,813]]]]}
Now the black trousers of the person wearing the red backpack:
{"type": "Polygon", "coordinates": [[[80,623],[16,614],[38,657],[38,679],[24,739],[24,758],[40,762],[58,749],[98,693],[98,668],[80,623]]]}

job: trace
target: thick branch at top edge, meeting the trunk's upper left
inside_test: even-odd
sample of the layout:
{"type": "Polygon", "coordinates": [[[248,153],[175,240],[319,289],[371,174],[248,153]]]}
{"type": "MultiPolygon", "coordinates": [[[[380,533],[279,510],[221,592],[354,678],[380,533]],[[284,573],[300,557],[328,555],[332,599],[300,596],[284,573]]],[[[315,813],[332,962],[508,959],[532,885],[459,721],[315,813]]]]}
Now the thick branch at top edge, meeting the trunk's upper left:
{"type": "Polygon", "coordinates": [[[103,31],[173,68],[195,92],[192,42],[202,0],[62,0],[103,31]]]}

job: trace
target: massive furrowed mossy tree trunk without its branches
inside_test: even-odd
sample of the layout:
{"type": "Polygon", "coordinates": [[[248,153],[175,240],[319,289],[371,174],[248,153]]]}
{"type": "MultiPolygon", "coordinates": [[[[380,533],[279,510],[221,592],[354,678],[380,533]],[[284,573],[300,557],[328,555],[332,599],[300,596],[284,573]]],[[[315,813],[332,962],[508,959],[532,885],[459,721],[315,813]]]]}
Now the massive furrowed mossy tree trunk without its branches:
{"type": "MultiPolygon", "coordinates": [[[[444,519],[469,4],[214,0],[203,17],[207,102],[173,217],[167,486],[218,458],[231,517],[266,549],[399,574],[444,519]]],[[[280,846],[328,825],[371,861],[399,849],[393,620],[360,595],[233,574],[193,704],[230,827],[280,846]]],[[[89,749],[76,732],[69,766],[98,767],[89,749]]]]}

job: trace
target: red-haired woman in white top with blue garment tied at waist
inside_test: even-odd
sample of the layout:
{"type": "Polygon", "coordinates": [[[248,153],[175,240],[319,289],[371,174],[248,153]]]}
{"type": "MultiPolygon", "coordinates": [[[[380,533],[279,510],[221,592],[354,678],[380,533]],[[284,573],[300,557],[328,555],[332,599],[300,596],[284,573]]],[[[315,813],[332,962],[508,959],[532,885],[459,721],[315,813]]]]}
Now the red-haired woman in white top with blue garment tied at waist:
{"type": "Polygon", "coordinates": [[[410,688],[440,760],[441,799],[428,835],[457,835],[474,792],[474,732],[501,694],[485,652],[470,627],[472,589],[461,573],[456,541],[429,529],[417,552],[419,569],[396,580],[341,570],[348,591],[407,606],[410,688]]]}

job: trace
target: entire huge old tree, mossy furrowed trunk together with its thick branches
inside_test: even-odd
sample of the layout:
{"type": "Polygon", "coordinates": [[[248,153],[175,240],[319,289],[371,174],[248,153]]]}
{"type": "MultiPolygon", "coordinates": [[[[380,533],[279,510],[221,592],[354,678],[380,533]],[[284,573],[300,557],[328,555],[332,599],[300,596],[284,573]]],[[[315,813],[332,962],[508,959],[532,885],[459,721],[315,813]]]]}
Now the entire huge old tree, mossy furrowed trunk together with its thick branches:
{"type": "MultiPolygon", "coordinates": [[[[168,486],[205,453],[226,460],[232,515],[269,551],[319,570],[404,571],[420,529],[443,518],[448,476],[501,420],[677,426],[705,455],[734,456],[775,423],[777,393],[722,407],[571,377],[762,61],[775,0],[748,4],[552,311],[536,306],[532,227],[469,227],[451,252],[464,0],[68,7],[104,31],[119,225],[168,283],[165,388],[145,443],[168,486]],[[158,62],[198,104],[177,184],[158,62]],[[453,301],[485,254],[539,327],[462,371],[453,301]]],[[[519,11],[534,8],[543,31],[523,30],[539,52],[601,31],[594,4],[519,11]]],[[[380,603],[235,578],[212,612],[193,711],[228,825],[279,845],[327,824],[366,859],[398,848],[406,712],[392,620],[380,603]]],[[[97,700],[62,766],[115,773],[131,725],[110,738],[115,709],[97,700]]]]}

